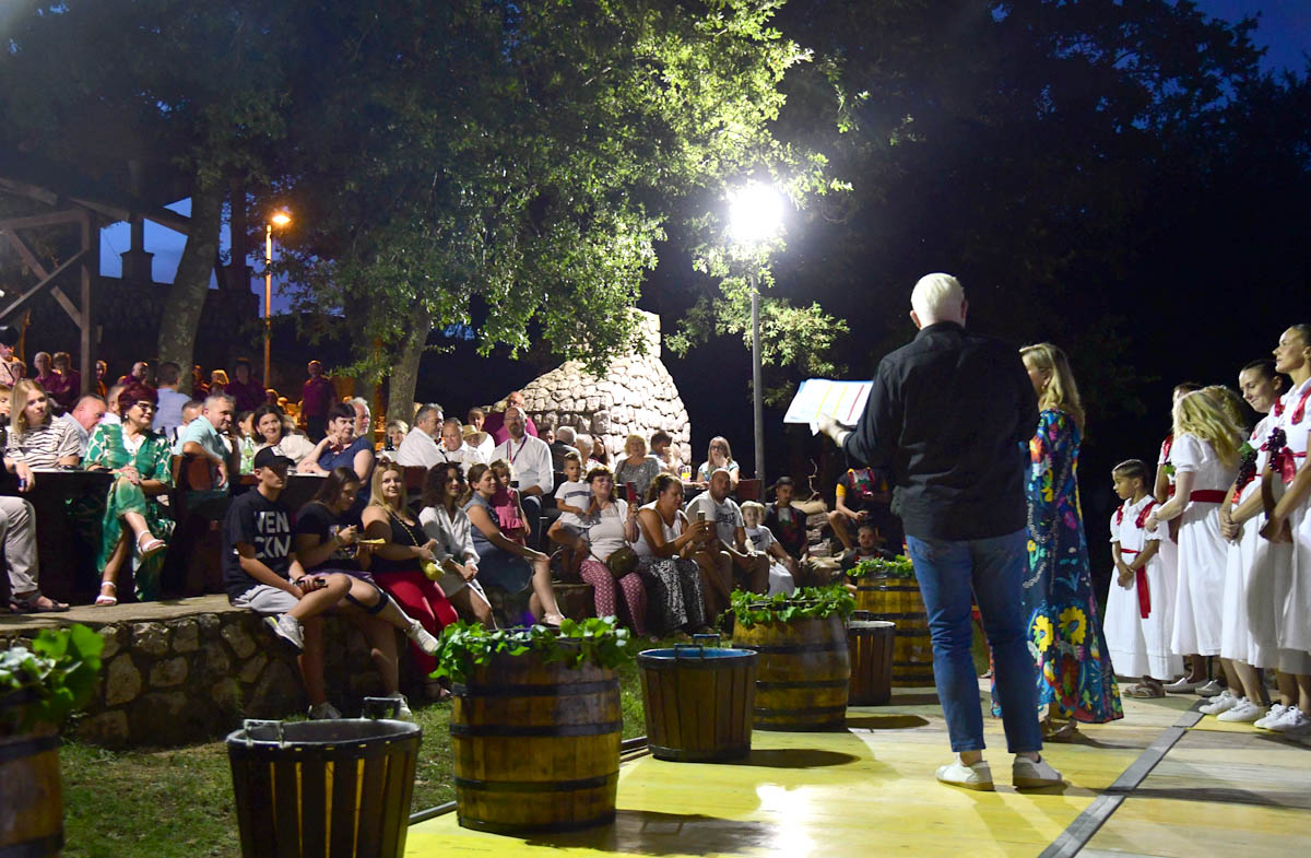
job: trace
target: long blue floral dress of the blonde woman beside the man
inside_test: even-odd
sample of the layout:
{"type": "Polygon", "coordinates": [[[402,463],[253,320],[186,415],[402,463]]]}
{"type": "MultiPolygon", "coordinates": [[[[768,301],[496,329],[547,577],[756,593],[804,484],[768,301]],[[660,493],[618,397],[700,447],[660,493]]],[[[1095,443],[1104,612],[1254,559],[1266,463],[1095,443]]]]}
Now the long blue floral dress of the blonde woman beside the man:
{"type": "MultiPolygon", "coordinates": [[[[1038,705],[1055,703],[1062,718],[1101,724],[1125,712],[1088,568],[1078,483],[1082,434],[1070,415],[1047,409],[1029,441],[1029,575],[1023,600],[1038,705]]],[[[995,695],[992,711],[1000,714],[995,695]]]]}

